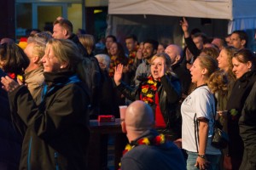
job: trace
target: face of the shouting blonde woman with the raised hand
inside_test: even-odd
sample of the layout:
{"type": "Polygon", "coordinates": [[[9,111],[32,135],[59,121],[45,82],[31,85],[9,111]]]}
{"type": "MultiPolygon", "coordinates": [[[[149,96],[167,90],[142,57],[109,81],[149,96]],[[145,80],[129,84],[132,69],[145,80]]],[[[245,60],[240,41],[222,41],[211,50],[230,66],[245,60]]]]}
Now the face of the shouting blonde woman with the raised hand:
{"type": "Polygon", "coordinates": [[[164,70],[164,72],[166,71],[165,62],[166,62],[165,59],[161,57],[157,57],[151,61],[151,74],[154,80],[157,80],[160,77],[162,77],[161,75],[162,70],[164,70]]]}

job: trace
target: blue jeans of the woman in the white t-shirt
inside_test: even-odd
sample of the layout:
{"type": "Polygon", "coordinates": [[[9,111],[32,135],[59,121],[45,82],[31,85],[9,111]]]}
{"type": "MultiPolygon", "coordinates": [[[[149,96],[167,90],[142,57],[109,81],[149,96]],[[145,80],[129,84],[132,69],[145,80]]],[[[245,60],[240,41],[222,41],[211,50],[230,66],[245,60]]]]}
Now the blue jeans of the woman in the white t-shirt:
{"type": "MultiPolygon", "coordinates": [[[[187,151],[187,154],[188,154],[187,170],[198,170],[198,168],[195,167],[195,161],[197,159],[198,153],[187,151]]],[[[220,158],[220,155],[206,155],[206,156],[207,156],[207,161],[211,162],[208,164],[207,170],[218,170],[218,160],[220,158]]]]}

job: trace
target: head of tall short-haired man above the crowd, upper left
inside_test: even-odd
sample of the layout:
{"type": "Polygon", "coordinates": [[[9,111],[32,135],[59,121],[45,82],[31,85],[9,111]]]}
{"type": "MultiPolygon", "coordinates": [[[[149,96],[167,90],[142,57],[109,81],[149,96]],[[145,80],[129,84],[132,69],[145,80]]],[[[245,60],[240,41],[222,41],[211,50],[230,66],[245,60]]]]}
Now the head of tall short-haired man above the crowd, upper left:
{"type": "Polygon", "coordinates": [[[67,39],[73,34],[73,25],[69,20],[55,20],[53,26],[52,37],[55,39],[67,39]]]}

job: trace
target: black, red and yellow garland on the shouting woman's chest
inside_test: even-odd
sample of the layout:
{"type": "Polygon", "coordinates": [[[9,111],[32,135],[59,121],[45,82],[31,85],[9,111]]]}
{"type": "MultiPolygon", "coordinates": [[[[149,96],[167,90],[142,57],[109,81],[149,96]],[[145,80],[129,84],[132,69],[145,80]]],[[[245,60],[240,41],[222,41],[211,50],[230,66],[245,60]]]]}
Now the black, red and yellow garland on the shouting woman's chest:
{"type": "Polygon", "coordinates": [[[154,103],[154,94],[157,90],[157,82],[153,80],[152,76],[148,77],[148,81],[142,86],[142,100],[147,104],[154,103]]]}

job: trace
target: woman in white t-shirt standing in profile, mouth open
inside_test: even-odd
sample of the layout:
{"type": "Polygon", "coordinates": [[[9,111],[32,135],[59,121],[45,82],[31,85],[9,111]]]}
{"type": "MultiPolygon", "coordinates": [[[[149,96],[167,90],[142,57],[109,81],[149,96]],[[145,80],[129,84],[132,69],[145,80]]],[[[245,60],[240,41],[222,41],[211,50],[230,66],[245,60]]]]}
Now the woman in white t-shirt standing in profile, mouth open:
{"type": "MultiPolygon", "coordinates": [[[[216,59],[198,56],[190,68],[195,90],[183,100],[182,147],[188,154],[187,169],[218,169],[220,150],[211,145],[215,115],[215,91],[207,83],[218,70],[216,59]]],[[[213,84],[212,84],[213,85],[213,84]]],[[[216,84],[218,85],[218,84],[216,84]]]]}

